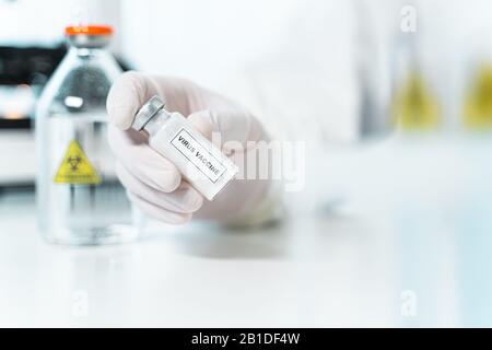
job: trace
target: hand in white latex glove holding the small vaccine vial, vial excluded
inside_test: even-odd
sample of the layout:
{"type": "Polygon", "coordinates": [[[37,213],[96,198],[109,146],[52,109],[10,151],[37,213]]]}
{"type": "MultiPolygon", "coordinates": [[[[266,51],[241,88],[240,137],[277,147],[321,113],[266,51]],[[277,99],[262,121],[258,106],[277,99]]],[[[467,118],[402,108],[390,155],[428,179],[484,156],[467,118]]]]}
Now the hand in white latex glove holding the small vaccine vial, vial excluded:
{"type": "MultiPolygon", "coordinates": [[[[256,147],[247,148],[247,141],[268,141],[254,116],[221,95],[187,80],[127,72],[112,86],[107,112],[113,124],[108,137],[118,161],[117,174],[130,200],[149,215],[168,223],[185,223],[192,215],[224,223],[243,222],[255,215],[268,217],[265,211],[271,207],[266,205],[270,200],[271,182],[258,179],[258,176],[241,179],[243,162],[236,164],[239,179],[234,179],[213,201],[208,201],[181,178],[173,163],[148,145],[145,135],[130,129],[137,110],[153,95],[166,103],[167,110],[187,116],[207,138],[210,139],[212,132],[221,132],[222,151],[227,155],[232,151],[227,149],[230,141],[243,145],[235,152],[257,152],[256,147]],[[255,213],[258,210],[263,212],[255,213]]],[[[243,155],[239,159],[246,160],[247,155],[243,155]]]]}

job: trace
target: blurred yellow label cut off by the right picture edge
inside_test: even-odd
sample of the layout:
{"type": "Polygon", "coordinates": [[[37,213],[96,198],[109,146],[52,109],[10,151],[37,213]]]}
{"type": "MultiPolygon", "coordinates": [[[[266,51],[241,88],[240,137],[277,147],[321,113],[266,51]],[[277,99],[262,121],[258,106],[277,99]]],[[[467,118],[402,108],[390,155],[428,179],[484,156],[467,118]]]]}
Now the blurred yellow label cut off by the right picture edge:
{"type": "Polygon", "coordinates": [[[492,66],[481,65],[477,70],[464,109],[468,128],[492,128],[492,66]]]}

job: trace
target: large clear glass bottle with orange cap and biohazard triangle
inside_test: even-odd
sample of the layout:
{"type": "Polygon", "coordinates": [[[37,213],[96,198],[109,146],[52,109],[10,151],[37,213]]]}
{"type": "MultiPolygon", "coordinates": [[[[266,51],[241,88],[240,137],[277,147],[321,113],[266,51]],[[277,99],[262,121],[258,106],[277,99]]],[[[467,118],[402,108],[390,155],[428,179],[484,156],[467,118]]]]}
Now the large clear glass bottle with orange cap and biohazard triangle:
{"type": "Polygon", "coordinates": [[[106,96],[121,73],[109,26],[66,28],[69,51],[36,112],[38,223],[54,243],[128,242],[139,230],[107,144],[106,96]]]}

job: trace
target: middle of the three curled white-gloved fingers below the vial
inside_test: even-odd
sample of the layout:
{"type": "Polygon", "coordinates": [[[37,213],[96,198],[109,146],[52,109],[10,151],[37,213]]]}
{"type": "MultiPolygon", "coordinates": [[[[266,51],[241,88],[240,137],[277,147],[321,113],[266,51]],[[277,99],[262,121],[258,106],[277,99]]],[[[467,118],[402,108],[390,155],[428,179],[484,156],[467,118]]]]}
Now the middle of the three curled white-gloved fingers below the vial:
{"type": "Polygon", "coordinates": [[[116,171],[118,178],[128,190],[163,209],[179,213],[192,213],[203,205],[203,197],[188,183],[183,182],[175,191],[166,194],[145,185],[120,163],[117,164],[116,171]]]}

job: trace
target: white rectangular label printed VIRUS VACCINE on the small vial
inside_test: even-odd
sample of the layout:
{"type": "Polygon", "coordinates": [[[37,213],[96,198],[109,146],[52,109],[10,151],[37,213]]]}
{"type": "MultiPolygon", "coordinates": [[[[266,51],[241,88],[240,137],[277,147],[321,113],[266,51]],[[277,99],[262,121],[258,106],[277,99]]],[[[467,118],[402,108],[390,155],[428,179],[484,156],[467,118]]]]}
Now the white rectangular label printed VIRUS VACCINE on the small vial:
{"type": "Polygon", "coordinates": [[[171,140],[171,144],[190,161],[212,183],[225,173],[226,167],[197,138],[185,128],[171,140]]]}

